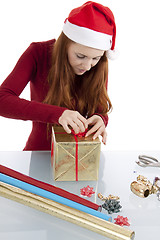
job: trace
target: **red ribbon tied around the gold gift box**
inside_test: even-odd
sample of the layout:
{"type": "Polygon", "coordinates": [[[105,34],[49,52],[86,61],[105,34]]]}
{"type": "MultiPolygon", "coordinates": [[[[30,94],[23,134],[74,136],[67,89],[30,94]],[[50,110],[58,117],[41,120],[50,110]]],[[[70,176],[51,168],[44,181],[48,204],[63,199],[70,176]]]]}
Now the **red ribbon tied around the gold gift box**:
{"type": "MultiPolygon", "coordinates": [[[[73,129],[71,129],[71,133],[74,136],[75,142],[76,142],[76,153],[75,153],[75,166],[76,166],[76,181],[78,181],[78,139],[77,137],[85,137],[88,129],[86,129],[84,132],[75,133],[73,129]]],[[[66,134],[66,132],[55,132],[55,134],[66,134]]]]}

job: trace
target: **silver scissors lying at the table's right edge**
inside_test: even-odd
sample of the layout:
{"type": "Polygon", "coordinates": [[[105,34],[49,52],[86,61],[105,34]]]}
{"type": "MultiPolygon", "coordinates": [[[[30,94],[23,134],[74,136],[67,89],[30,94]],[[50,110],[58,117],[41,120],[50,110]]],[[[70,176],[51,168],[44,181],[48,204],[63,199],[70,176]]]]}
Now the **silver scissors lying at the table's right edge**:
{"type": "Polygon", "coordinates": [[[154,157],[139,155],[138,158],[136,163],[141,167],[160,167],[160,162],[154,157]]]}

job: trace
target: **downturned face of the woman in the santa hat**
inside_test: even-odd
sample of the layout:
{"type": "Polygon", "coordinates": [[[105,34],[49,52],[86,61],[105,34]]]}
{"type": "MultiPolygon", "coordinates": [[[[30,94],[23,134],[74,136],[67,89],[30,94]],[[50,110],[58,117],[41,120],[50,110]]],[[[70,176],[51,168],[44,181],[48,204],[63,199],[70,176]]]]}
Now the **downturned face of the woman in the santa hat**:
{"type": "Polygon", "coordinates": [[[77,75],[82,75],[94,67],[103,56],[104,51],[71,43],[68,48],[68,60],[77,75]]]}

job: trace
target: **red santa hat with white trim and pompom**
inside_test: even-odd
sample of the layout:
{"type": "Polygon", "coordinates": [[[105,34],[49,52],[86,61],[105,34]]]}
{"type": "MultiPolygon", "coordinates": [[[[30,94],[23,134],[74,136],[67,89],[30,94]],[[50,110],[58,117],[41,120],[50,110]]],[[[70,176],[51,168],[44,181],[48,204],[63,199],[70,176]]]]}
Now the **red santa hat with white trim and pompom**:
{"type": "Polygon", "coordinates": [[[64,22],[63,32],[72,41],[105,50],[108,58],[114,58],[116,25],[108,7],[89,1],[73,9],[64,22]]]}

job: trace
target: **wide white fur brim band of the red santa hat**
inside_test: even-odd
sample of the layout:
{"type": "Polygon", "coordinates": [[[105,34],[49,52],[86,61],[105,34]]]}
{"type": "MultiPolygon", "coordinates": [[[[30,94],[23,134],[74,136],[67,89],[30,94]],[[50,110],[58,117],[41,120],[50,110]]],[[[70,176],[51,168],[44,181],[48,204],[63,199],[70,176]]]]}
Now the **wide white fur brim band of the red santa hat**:
{"type": "Polygon", "coordinates": [[[68,19],[63,25],[63,32],[76,43],[105,51],[111,48],[111,35],[74,25],[68,19]]]}

